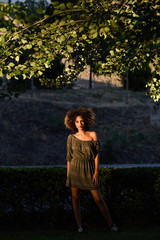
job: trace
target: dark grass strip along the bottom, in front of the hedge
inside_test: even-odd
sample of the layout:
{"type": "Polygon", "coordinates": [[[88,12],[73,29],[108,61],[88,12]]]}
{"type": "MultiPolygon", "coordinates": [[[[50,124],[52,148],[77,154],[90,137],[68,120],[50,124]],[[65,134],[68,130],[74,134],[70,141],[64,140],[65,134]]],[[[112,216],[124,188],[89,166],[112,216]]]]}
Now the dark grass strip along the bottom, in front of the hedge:
{"type": "Polygon", "coordinates": [[[88,229],[87,233],[57,229],[49,231],[0,232],[2,240],[159,240],[160,227],[124,228],[119,233],[104,228],[88,229]]]}

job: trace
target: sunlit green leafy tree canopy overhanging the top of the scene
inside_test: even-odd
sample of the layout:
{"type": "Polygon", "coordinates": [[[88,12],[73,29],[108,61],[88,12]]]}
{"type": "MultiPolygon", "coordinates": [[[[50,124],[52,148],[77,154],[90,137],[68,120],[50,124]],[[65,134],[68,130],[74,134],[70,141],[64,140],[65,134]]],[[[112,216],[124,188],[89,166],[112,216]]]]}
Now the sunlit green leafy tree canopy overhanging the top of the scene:
{"type": "MultiPolygon", "coordinates": [[[[121,74],[152,63],[160,75],[158,0],[59,0],[38,15],[27,11],[0,4],[0,76],[40,78],[57,56],[75,62],[57,77],[57,86],[75,80],[87,64],[96,74],[121,74]]],[[[158,101],[160,81],[148,87],[158,101]]]]}

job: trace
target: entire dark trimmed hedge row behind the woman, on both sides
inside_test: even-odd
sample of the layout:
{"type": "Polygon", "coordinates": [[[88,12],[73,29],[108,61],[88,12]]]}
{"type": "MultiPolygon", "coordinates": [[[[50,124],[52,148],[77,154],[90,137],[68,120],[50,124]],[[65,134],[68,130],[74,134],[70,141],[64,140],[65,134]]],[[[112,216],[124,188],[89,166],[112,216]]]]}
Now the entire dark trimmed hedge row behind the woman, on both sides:
{"type": "MultiPolygon", "coordinates": [[[[65,181],[64,168],[0,168],[0,226],[51,227],[74,222],[65,181]]],[[[160,222],[160,168],[103,167],[100,188],[119,225],[160,222]]],[[[81,192],[81,202],[85,220],[101,222],[88,191],[81,192]]]]}

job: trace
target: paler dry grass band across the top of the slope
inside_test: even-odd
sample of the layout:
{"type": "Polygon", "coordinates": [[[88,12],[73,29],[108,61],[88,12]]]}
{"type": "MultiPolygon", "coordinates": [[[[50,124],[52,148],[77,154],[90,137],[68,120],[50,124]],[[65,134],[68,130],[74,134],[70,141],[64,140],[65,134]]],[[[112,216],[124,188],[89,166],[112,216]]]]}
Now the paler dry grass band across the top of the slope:
{"type": "MultiPolygon", "coordinates": [[[[23,93],[20,98],[29,98],[30,91],[23,93]]],[[[65,104],[81,104],[101,107],[102,105],[122,105],[126,106],[126,90],[122,87],[112,87],[105,83],[97,83],[95,88],[88,89],[86,81],[85,88],[61,89],[61,90],[35,90],[34,99],[47,102],[58,102],[65,104]]],[[[146,97],[145,92],[129,91],[129,105],[147,105],[150,98],[146,97]]]]}

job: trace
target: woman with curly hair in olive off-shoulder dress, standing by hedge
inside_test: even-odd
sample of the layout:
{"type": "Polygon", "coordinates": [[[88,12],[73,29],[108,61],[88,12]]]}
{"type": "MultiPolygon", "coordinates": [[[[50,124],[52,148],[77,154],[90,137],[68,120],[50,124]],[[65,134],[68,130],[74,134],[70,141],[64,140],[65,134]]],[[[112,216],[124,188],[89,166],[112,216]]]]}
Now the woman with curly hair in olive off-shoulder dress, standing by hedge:
{"type": "Polygon", "coordinates": [[[94,123],[92,109],[82,107],[70,110],[65,117],[65,125],[75,134],[67,139],[67,180],[71,188],[72,205],[78,232],[83,232],[79,190],[90,190],[96,204],[112,231],[118,228],[112,223],[108,208],[99,190],[99,141],[96,132],[89,131],[94,123]]]}

